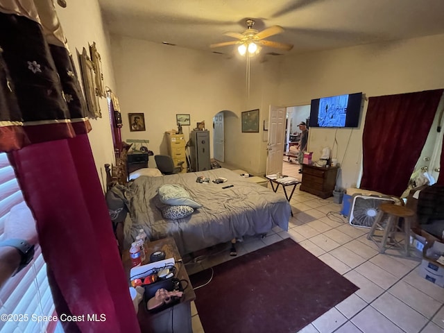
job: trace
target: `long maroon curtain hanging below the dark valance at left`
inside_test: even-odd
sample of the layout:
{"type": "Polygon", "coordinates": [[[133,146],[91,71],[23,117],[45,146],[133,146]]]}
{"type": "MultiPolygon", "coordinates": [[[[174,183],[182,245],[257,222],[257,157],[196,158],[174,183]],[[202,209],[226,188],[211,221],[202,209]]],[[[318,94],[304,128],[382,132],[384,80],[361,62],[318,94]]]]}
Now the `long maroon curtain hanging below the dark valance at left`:
{"type": "Polygon", "coordinates": [[[81,332],[139,332],[87,135],[10,156],[37,220],[59,316],[66,307],[75,316],[105,315],[105,321],[79,321],[81,332]]]}

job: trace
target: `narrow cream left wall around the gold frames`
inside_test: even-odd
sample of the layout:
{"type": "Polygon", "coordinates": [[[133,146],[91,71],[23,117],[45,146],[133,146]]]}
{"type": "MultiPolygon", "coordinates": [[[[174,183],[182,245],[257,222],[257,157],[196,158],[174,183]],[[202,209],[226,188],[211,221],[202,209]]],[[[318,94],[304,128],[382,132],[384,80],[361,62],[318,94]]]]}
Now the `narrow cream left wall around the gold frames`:
{"type": "MultiPolygon", "coordinates": [[[[101,55],[105,85],[108,85],[114,91],[114,74],[112,71],[109,37],[103,26],[98,1],[76,0],[67,1],[67,3],[67,8],[61,8],[57,5],[56,8],[60,23],[68,40],[69,49],[74,58],[80,84],[82,84],[82,80],[77,51],[81,53],[83,47],[85,47],[89,52],[88,43],[96,42],[97,50],[101,55]]],[[[89,119],[92,131],[88,134],[88,137],[99,177],[102,184],[105,184],[106,178],[103,164],[114,163],[114,148],[112,146],[108,104],[105,98],[100,99],[99,102],[102,118],[89,119]]]]}

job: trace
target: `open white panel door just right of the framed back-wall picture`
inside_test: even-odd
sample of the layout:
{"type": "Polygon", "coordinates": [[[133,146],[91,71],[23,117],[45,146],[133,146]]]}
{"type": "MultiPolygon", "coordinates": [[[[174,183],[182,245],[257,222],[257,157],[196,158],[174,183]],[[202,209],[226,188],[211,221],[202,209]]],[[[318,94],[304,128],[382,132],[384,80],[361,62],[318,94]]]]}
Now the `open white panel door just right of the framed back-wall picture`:
{"type": "Polygon", "coordinates": [[[268,114],[268,144],[266,174],[282,173],[284,156],[285,119],[287,108],[270,105],[268,114]]]}

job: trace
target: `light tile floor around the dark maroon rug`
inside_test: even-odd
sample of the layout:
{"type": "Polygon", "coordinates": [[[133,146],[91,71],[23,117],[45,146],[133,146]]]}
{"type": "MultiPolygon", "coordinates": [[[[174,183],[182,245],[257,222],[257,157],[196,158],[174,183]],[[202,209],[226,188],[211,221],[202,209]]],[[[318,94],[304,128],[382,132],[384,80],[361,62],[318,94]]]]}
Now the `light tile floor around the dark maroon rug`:
{"type": "MultiPolygon", "coordinates": [[[[283,169],[288,176],[300,177],[297,164],[284,162],[283,169]]],[[[278,191],[283,195],[281,188],[278,191]]],[[[291,206],[294,216],[288,232],[273,228],[264,239],[244,239],[237,244],[238,255],[291,237],[359,287],[300,333],[444,333],[444,289],[418,275],[420,258],[413,250],[411,257],[395,248],[379,254],[366,239],[368,228],[348,224],[333,198],[323,200],[296,189],[291,206]]],[[[187,265],[187,271],[234,259],[227,249],[187,265]]],[[[204,332],[194,304],[191,311],[193,332],[204,332]]]]}

